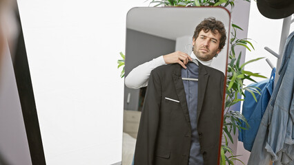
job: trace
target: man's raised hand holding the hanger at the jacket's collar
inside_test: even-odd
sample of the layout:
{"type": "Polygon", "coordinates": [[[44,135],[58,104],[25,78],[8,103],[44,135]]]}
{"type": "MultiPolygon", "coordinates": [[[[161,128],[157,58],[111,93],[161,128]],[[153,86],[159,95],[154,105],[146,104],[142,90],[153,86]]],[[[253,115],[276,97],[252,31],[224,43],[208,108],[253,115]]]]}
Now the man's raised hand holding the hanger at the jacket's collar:
{"type": "Polygon", "coordinates": [[[182,67],[184,67],[185,69],[187,69],[185,65],[189,61],[192,61],[192,58],[188,56],[188,54],[180,51],[164,55],[164,62],[166,62],[166,64],[179,63],[179,65],[182,65],[182,67]]]}

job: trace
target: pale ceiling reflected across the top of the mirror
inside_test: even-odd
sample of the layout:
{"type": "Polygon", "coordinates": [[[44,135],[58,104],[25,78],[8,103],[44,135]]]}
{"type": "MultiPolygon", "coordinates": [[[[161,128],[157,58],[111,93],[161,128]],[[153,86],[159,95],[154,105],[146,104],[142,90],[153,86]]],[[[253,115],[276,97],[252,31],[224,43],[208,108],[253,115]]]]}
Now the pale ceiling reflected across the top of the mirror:
{"type": "Polygon", "coordinates": [[[230,14],[224,8],[132,8],[127,14],[126,28],[175,40],[193,36],[196,26],[205,18],[222,21],[228,32],[230,14]]]}

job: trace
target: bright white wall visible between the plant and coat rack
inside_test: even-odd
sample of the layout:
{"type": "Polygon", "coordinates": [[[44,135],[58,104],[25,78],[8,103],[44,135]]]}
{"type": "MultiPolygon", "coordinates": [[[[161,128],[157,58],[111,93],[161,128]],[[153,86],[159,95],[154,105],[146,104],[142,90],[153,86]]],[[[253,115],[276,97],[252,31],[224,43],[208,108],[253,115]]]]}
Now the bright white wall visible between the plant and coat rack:
{"type": "MultiPolygon", "coordinates": [[[[271,76],[271,67],[266,63],[268,58],[273,65],[277,65],[277,58],[264,50],[264,47],[269,47],[271,50],[279,53],[280,37],[282,33],[283,19],[267,19],[259,13],[255,1],[251,2],[251,12],[249,17],[248,38],[253,39],[255,50],[246,51],[246,61],[254,58],[265,57],[255,63],[246,65],[245,69],[262,74],[263,76],[271,76]],[[257,67],[258,66],[258,67],[257,67]]],[[[290,33],[294,30],[294,23],[291,25],[290,33]]],[[[289,33],[289,34],[290,34],[289,33]]],[[[255,80],[264,80],[264,78],[254,78],[255,80]]],[[[249,85],[250,82],[245,82],[249,85]]]]}

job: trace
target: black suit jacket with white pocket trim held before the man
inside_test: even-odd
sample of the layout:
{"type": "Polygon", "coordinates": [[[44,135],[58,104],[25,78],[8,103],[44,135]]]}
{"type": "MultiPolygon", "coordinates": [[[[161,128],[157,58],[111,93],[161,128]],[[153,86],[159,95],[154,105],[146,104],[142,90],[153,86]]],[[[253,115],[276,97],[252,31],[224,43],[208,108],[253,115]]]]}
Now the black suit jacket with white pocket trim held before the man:
{"type": "MultiPolygon", "coordinates": [[[[188,164],[191,126],[181,68],[179,64],[163,65],[150,74],[135,165],[188,164]]],[[[224,74],[199,63],[197,131],[205,165],[219,161],[223,89],[224,74]]]]}

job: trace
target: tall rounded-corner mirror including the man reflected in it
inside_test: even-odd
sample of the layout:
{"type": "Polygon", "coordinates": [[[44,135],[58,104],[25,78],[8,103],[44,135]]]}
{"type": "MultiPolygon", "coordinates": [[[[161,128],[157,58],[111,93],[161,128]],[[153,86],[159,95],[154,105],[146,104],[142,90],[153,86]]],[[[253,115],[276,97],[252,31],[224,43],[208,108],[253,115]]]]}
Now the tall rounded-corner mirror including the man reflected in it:
{"type": "Polygon", "coordinates": [[[122,164],[217,164],[230,14],[133,8],[122,164]]]}

